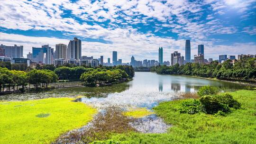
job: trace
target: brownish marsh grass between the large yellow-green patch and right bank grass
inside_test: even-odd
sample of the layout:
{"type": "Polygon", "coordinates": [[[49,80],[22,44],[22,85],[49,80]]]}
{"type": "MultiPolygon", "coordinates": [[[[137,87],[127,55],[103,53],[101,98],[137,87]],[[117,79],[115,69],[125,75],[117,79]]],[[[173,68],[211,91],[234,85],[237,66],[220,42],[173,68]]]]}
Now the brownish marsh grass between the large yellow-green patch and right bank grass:
{"type": "Polygon", "coordinates": [[[109,139],[113,134],[135,132],[136,129],[129,125],[133,121],[124,116],[120,108],[109,107],[95,116],[89,126],[61,135],[54,144],[89,144],[109,139]]]}

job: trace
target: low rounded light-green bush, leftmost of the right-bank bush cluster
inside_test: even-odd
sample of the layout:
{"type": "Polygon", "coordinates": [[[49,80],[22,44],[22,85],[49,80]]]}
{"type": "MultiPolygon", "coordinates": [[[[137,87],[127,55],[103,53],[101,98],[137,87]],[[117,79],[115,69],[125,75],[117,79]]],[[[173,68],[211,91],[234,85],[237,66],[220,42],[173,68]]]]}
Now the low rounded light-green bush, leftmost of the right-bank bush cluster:
{"type": "Polygon", "coordinates": [[[201,111],[201,103],[198,99],[187,100],[182,103],[182,107],[179,108],[180,113],[196,114],[201,111]]]}

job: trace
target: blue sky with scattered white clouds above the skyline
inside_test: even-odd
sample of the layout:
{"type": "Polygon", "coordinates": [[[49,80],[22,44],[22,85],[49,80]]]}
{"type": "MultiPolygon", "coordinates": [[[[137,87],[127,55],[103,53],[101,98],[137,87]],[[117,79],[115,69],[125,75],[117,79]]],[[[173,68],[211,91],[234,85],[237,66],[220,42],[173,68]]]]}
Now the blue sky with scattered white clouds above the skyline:
{"type": "Polygon", "coordinates": [[[82,40],[82,55],[129,62],[191,55],[203,44],[205,58],[256,54],[256,0],[0,0],[0,44],[32,46],[82,40]]]}

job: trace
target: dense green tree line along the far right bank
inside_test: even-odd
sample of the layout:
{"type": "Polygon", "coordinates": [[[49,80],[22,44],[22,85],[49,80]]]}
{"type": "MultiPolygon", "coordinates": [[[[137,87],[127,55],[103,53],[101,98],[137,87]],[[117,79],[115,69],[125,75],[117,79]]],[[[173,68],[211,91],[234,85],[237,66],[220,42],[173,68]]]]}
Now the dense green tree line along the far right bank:
{"type": "Polygon", "coordinates": [[[151,71],[158,74],[182,74],[201,77],[212,77],[220,80],[256,81],[256,58],[243,58],[231,63],[213,61],[210,64],[186,63],[179,66],[157,66],[151,71]]]}

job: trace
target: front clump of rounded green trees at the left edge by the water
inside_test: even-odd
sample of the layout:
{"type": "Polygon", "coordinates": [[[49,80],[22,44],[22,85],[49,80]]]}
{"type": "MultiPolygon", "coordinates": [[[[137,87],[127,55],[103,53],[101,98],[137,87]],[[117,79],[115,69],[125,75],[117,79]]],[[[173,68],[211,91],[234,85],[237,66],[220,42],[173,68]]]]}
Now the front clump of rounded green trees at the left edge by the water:
{"type": "Polygon", "coordinates": [[[0,68],[0,91],[10,90],[21,86],[20,90],[24,91],[27,84],[32,84],[35,89],[38,87],[47,87],[49,83],[58,80],[55,72],[50,70],[32,70],[30,72],[8,70],[0,68]]]}

